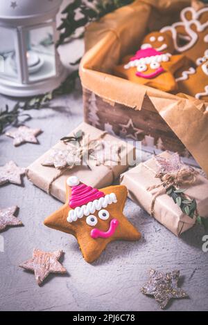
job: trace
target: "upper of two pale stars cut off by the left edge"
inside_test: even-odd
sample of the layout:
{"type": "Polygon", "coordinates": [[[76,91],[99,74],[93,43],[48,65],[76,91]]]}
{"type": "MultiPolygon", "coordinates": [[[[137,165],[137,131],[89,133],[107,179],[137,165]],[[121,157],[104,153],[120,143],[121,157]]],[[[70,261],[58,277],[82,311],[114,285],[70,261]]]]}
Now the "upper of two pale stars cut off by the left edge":
{"type": "Polygon", "coordinates": [[[0,167],[0,185],[12,183],[21,185],[21,175],[25,174],[25,168],[18,167],[12,160],[0,167]]]}

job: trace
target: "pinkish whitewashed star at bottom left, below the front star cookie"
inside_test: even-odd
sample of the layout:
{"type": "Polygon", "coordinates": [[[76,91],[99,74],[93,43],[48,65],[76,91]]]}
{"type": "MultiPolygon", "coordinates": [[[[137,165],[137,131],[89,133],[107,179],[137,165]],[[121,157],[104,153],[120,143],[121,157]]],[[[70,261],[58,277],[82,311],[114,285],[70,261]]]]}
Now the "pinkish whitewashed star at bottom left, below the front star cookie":
{"type": "Polygon", "coordinates": [[[44,252],[35,248],[33,250],[33,258],[21,263],[19,267],[34,272],[35,280],[40,286],[50,273],[67,273],[67,270],[58,261],[62,254],[62,250],[44,252]]]}

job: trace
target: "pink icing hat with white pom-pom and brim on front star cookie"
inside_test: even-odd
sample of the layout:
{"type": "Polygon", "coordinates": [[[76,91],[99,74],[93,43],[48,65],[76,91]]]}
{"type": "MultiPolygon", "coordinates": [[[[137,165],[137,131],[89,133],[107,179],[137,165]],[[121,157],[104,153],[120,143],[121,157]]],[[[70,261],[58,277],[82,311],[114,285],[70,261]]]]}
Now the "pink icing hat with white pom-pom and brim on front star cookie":
{"type": "Polygon", "coordinates": [[[116,203],[116,194],[106,194],[87,186],[80,182],[77,176],[67,178],[67,185],[71,187],[71,196],[69,198],[69,214],[67,221],[76,221],[83,216],[94,214],[96,210],[101,210],[107,205],[116,203]]]}

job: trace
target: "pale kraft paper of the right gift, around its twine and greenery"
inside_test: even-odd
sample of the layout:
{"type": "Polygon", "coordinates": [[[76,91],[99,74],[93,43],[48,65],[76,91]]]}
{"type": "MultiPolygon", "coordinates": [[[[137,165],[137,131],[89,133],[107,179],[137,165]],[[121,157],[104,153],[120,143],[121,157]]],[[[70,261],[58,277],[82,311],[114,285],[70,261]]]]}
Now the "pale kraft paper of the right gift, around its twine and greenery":
{"type": "MultiPolygon", "coordinates": [[[[161,156],[168,158],[171,154],[165,151],[161,156]]],[[[154,189],[149,192],[147,188],[161,183],[159,178],[155,178],[157,168],[155,159],[151,158],[121,175],[121,184],[128,188],[128,197],[147,212],[150,211],[153,195],[157,191],[154,189]]],[[[182,187],[187,189],[185,192],[187,195],[196,198],[200,216],[208,216],[208,180],[198,174],[194,185],[182,187]]],[[[156,198],[154,217],[176,236],[193,227],[196,222],[195,219],[183,214],[180,207],[167,194],[162,194],[156,198]]]]}

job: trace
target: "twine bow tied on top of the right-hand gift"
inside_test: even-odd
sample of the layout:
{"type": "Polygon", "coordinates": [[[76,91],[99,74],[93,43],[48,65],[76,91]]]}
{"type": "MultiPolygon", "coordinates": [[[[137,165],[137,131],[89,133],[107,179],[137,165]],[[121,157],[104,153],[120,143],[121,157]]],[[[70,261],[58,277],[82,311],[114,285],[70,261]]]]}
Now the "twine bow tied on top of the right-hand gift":
{"type": "Polygon", "coordinates": [[[150,215],[154,214],[155,200],[157,196],[166,193],[169,187],[175,186],[176,189],[179,189],[181,185],[192,185],[196,182],[196,176],[198,171],[191,167],[182,167],[178,171],[170,172],[167,174],[157,174],[156,177],[159,177],[161,182],[158,185],[152,185],[147,188],[148,191],[158,188],[158,191],[153,196],[152,203],[150,205],[150,215]],[[159,189],[162,187],[162,189],[159,189]]]}

